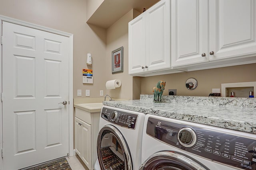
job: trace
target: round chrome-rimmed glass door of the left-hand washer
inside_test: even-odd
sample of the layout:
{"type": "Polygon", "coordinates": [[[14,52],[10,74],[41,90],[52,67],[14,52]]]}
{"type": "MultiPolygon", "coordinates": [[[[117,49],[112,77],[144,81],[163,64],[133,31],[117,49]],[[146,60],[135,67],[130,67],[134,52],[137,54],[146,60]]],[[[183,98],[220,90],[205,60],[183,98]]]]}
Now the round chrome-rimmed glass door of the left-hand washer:
{"type": "Polygon", "coordinates": [[[102,170],[132,170],[130,150],[116,127],[102,127],[97,139],[97,152],[102,170]]]}

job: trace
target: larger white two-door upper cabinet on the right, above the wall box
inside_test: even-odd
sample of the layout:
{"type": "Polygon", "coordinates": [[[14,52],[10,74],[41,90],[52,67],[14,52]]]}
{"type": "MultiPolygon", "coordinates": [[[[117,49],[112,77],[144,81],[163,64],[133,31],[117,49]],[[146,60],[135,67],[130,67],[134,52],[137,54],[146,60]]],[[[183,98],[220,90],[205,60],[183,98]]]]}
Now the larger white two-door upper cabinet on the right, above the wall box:
{"type": "Polygon", "coordinates": [[[171,11],[173,68],[256,62],[255,0],[171,0],[171,11]]]}

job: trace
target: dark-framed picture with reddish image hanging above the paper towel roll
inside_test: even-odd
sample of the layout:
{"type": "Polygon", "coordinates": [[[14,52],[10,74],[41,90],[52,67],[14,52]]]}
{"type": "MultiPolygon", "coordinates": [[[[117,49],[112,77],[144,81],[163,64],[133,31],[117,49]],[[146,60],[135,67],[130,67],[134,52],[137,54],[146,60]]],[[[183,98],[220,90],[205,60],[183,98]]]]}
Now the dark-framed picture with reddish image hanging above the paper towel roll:
{"type": "Polygon", "coordinates": [[[112,74],[124,72],[123,51],[123,47],[112,51],[112,74]]]}

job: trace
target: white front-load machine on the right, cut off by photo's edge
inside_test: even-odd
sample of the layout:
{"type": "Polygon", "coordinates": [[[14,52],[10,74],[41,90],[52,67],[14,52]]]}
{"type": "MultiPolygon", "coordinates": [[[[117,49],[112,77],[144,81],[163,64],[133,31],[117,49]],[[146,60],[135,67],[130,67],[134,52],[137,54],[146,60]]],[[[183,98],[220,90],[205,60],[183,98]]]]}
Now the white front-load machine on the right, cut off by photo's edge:
{"type": "Polygon", "coordinates": [[[139,170],[256,170],[256,134],[146,115],[139,170]]]}

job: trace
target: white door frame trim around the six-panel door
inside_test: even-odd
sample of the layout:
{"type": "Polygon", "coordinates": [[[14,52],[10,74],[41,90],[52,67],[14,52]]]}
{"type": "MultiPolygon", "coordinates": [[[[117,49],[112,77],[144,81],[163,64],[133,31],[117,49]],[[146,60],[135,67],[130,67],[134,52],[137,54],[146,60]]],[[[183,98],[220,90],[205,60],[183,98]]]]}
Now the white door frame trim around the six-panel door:
{"type": "MultiPolygon", "coordinates": [[[[69,156],[74,156],[74,147],[73,147],[73,37],[74,35],[71,33],[67,33],[64,31],[59,31],[56,29],[52,29],[52,28],[48,28],[48,27],[44,27],[41,25],[37,25],[34,23],[29,23],[26,21],[22,21],[22,20],[17,20],[14,18],[10,18],[10,17],[6,17],[6,16],[2,16],[0,15],[0,33],[2,36],[2,21],[7,21],[10,23],[15,23],[18,25],[22,25],[22,26],[26,26],[26,27],[30,27],[30,28],[34,28],[34,29],[39,29],[41,31],[47,31],[50,33],[54,33],[54,34],[58,34],[58,35],[63,35],[65,37],[69,38],[69,84],[68,84],[68,91],[69,91],[69,96],[68,96],[68,100],[69,100],[69,110],[68,110],[68,119],[69,119],[69,156]]],[[[2,39],[1,39],[2,42],[2,39]]],[[[0,90],[1,90],[1,94],[2,94],[2,45],[0,48],[0,90]]],[[[0,96],[1,100],[2,100],[2,95],[0,96]]],[[[0,149],[2,150],[3,148],[3,139],[2,139],[2,102],[0,104],[0,149]]],[[[0,170],[3,169],[3,158],[0,159],[0,170]]]]}

